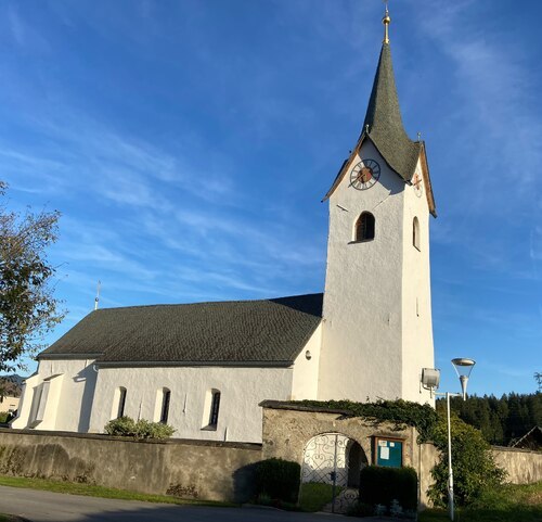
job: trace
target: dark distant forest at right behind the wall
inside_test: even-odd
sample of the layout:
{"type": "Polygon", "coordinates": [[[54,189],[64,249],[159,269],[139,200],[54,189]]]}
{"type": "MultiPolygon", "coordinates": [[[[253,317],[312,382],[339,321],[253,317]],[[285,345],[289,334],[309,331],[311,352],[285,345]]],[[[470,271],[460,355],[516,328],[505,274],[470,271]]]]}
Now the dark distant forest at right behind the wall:
{"type": "MultiPolygon", "coordinates": [[[[498,446],[508,446],[522,437],[533,426],[542,426],[542,393],[509,393],[496,398],[493,395],[463,400],[452,397],[451,410],[478,428],[486,441],[498,446]]],[[[437,410],[446,412],[446,399],[437,400],[437,410]]]]}

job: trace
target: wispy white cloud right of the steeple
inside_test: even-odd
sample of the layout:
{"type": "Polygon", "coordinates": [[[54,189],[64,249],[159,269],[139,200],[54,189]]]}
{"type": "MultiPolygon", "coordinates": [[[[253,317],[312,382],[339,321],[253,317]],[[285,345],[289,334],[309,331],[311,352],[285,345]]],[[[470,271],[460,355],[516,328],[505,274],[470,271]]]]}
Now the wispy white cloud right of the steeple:
{"type": "Polygon", "coordinates": [[[455,107],[459,127],[454,139],[468,139],[469,150],[476,150],[476,156],[464,163],[467,168],[457,169],[457,179],[468,181],[470,206],[486,212],[494,205],[500,193],[495,189],[500,191],[507,165],[517,164],[519,148],[521,171],[506,191],[508,204],[517,204],[519,198],[531,198],[529,191],[540,179],[542,122],[532,111],[531,102],[538,98],[533,68],[506,34],[485,33],[485,25],[477,23],[480,2],[438,3],[430,16],[421,11],[418,20],[454,67],[455,85],[449,88],[462,99],[455,107]]]}

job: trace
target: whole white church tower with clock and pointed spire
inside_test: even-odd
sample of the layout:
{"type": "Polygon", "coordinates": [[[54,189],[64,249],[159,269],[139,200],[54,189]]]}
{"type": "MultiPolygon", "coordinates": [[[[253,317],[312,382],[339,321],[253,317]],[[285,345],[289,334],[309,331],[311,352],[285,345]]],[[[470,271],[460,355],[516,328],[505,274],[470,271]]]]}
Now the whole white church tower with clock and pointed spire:
{"type": "Polygon", "coordinates": [[[388,38],[361,136],[324,198],[330,204],[319,399],[365,402],[420,393],[434,368],[425,143],[403,128],[388,38]]]}

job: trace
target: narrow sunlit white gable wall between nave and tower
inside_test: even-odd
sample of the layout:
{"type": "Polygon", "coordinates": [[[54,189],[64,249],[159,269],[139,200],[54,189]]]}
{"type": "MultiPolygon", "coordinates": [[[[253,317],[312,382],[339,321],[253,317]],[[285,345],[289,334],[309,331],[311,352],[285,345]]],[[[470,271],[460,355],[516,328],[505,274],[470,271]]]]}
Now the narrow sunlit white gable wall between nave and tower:
{"type": "Polygon", "coordinates": [[[321,345],[322,323],[314,330],[314,333],[294,362],[292,400],[318,398],[318,372],[321,345]],[[310,359],[307,358],[307,352],[310,353],[310,359]]]}

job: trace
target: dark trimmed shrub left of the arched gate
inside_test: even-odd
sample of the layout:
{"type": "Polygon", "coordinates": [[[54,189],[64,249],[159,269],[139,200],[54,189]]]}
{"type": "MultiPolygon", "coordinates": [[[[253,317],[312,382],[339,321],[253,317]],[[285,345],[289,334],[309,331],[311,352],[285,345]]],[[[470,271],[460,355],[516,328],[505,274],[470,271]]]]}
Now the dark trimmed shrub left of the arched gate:
{"type": "Polygon", "coordinates": [[[283,459],[268,459],[256,469],[256,493],[285,502],[297,502],[301,467],[283,459]]]}

